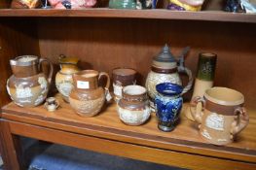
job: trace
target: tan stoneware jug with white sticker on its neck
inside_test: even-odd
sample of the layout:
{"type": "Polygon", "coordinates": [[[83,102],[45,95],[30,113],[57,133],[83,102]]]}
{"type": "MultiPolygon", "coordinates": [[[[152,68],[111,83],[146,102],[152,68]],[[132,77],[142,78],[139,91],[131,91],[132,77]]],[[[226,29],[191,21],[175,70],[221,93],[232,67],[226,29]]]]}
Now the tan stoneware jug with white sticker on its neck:
{"type": "Polygon", "coordinates": [[[69,102],[76,113],[82,117],[98,114],[105,102],[105,89],[108,90],[110,79],[107,73],[84,70],[72,75],[74,88],[69,95],[69,102]],[[98,86],[98,81],[107,78],[106,86],[98,86]]]}

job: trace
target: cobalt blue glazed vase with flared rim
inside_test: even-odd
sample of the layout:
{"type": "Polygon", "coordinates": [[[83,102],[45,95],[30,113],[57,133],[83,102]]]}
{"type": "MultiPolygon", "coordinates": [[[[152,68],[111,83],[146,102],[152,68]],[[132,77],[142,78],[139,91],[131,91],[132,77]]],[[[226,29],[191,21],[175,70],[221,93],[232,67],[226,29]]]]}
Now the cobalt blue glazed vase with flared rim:
{"type": "Polygon", "coordinates": [[[163,83],[156,85],[158,94],[155,99],[158,127],[163,131],[171,131],[175,128],[182,108],[183,99],[181,85],[163,83]]]}

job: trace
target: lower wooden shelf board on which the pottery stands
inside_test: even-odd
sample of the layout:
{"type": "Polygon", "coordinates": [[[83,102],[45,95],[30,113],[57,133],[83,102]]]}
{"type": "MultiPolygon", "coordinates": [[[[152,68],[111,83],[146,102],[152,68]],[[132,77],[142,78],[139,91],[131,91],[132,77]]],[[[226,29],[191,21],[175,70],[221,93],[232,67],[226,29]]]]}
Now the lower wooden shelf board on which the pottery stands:
{"type": "MultiPolygon", "coordinates": [[[[57,98],[59,98],[57,96],[57,98]]],[[[77,116],[70,105],[59,98],[60,106],[55,113],[49,113],[43,106],[36,108],[20,108],[10,103],[2,109],[2,119],[54,128],[97,138],[121,141],[134,145],[158,148],[181,153],[193,153],[214,156],[224,159],[256,162],[256,112],[249,110],[250,123],[239,135],[236,142],[228,146],[214,146],[206,143],[200,137],[197,124],[183,115],[181,122],[172,132],[162,132],[157,127],[157,119],[152,114],[151,119],[140,126],[128,126],[121,122],[116,112],[116,104],[110,104],[102,113],[93,118],[77,116]]],[[[26,130],[16,129],[13,133],[23,133],[26,130]]],[[[29,136],[29,135],[28,135],[29,136]]]]}

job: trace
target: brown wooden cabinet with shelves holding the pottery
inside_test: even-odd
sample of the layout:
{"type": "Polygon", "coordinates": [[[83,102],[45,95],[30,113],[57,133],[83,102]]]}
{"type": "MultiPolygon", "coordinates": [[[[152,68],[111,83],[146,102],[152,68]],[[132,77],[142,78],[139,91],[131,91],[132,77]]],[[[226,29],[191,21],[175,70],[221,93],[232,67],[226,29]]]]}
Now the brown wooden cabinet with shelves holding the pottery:
{"type": "MultiPolygon", "coordinates": [[[[21,135],[185,168],[255,169],[255,30],[256,15],[215,11],[1,9],[1,152],[7,168],[21,164],[17,145],[21,135]],[[217,53],[215,85],[242,92],[251,118],[237,142],[225,147],[207,144],[197,125],[185,118],[170,133],[157,129],[154,115],[142,126],[127,126],[118,119],[114,104],[99,116],[84,119],[65,103],[55,114],[47,113],[43,106],[27,109],[9,103],[5,85],[12,74],[10,58],[21,54],[48,57],[57,71],[59,54],[78,56],[82,69],[111,74],[116,67],[134,68],[139,73],[138,84],[144,85],[152,57],[165,43],[176,56],[184,47],[191,47],[185,64],[194,75],[199,52],[217,53]]],[[[55,85],[52,89],[54,93],[55,85]]],[[[188,101],[190,96],[184,97],[188,101]]]]}

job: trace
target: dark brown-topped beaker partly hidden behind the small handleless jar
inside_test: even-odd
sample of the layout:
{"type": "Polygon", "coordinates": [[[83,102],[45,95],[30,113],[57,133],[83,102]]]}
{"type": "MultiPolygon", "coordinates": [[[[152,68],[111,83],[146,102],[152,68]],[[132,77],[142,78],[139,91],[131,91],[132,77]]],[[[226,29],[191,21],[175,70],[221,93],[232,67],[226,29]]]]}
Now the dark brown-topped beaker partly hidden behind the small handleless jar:
{"type": "Polygon", "coordinates": [[[136,84],[135,76],[136,71],[130,68],[116,68],[112,71],[114,99],[116,102],[122,98],[124,86],[136,84]]]}

